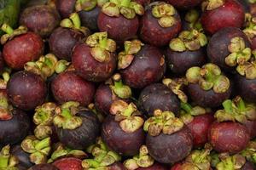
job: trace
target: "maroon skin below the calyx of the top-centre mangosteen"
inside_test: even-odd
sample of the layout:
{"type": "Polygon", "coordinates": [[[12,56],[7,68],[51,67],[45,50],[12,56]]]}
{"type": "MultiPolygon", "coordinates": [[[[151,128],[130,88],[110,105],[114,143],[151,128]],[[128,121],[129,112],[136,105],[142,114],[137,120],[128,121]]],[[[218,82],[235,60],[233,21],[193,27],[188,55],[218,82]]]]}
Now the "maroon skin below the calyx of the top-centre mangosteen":
{"type": "Polygon", "coordinates": [[[117,42],[124,42],[136,36],[139,20],[137,16],[129,20],[122,14],[119,17],[111,17],[101,12],[98,15],[97,25],[100,31],[108,31],[108,37],[117,42]]]}

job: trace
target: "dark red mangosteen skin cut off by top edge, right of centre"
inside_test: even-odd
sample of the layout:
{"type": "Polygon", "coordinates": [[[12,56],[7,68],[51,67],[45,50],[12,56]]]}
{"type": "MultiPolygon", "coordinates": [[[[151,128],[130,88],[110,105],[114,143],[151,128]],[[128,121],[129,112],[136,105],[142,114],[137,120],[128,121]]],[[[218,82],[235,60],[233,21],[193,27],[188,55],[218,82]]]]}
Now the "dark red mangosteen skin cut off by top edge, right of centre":
{"type": "Polygon", "coordinates": [[[199,5],[203,0],[166,0],[166,3],[172,4],[176,8],[188,9],[199,5]]]}

